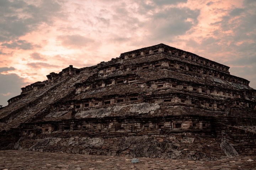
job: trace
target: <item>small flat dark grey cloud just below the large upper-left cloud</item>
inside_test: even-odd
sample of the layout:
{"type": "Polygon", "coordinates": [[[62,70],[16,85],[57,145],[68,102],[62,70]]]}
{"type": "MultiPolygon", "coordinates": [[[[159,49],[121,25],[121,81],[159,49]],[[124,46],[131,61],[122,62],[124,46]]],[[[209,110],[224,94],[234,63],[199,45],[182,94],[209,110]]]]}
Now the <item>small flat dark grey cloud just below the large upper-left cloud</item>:
{"type": "Polygon", "coordinates": [[[7,47],[9,49],[22,49],[22,50],[31,50],[34,47],[40,47],[39,45],[33,45],[26,40],[15,40],[11,43],[2,43],[2,47],[7,47]]]}

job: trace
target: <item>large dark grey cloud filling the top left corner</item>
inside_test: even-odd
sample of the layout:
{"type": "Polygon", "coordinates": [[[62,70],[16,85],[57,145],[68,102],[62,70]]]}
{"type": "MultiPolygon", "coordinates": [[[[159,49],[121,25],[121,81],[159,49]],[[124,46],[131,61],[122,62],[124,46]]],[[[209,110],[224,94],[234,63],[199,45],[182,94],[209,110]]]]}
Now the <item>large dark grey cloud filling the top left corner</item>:
{"type": "Polygon", "coordinates": [[[0,1],[0,42],[18,39],[20,36],[37,29],[41,23],[50,24],[58,16],[60,4],[51,0],[40,4],[25,1],[0,1]]]}

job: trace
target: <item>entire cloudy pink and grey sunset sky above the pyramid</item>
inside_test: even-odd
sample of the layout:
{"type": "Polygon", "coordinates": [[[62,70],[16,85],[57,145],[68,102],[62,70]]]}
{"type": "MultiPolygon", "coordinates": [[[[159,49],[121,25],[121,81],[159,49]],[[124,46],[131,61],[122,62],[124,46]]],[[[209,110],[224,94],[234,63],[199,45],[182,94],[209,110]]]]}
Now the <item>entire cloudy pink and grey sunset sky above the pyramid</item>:
{"type": "Polygon", "coordinates": [[[256,89],[255,0],[0,0],[0,105],[51,72],[166,44],[256,89]]]}

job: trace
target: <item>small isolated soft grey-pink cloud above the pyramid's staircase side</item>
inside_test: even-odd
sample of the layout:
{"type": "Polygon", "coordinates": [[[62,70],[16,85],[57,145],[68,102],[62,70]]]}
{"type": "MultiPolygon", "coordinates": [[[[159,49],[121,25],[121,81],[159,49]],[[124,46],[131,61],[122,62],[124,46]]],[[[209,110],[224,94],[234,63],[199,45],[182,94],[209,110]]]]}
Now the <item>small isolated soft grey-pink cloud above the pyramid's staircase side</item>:
{"type": "Polygon", "coordinates": [[[86,38],[81,35],[63,35],[58,36],[58,40],[62,42],[63,46],[72,47],[72,48],[80,48],[89,46],[90,43],[93,43],[94,40],[90,38],[86,38]]]}

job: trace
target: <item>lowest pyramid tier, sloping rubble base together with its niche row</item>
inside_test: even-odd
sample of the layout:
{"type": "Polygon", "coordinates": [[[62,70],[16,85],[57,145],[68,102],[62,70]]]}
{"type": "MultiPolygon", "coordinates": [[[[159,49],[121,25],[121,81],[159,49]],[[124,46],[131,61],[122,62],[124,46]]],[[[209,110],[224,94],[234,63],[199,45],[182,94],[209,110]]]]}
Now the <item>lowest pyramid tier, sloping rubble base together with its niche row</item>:
{"type": "Polygon", "coordinates": [[[192,160],[214,160],[238,154],[256,154],[256,135],[230,126],[234,122],[236,125],[253,126],[256,122],[254,119],[179,115],[154,119],[91,118],[83,121],[73,119],[69,122],[63,120],[62,123],[23,124],[22,128],[26,130],[23,130],[23,135],[14,148],[131,156],[134,147],[135,155],[138,157],[192,160]],[[200,124],[200,120],[207,124],[200,124]],[[181,128],[175,128],[176,122],[182,123],[181,128]],[[193,125],[193,122],[199,124],[193,125]],[[203,127],[206,125],[207,127],[203,127]]]}

